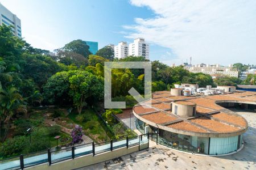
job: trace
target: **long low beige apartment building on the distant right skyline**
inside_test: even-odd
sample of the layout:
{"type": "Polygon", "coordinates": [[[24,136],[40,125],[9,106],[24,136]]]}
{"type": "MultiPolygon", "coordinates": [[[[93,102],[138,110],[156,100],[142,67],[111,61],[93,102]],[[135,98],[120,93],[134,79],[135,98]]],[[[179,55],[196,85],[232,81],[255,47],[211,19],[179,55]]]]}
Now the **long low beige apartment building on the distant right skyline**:
{"type": "Polygon", "coordinates": [[[233,68],[233,65],[229,66],[221,66],[221,65],[206,65],[204,63],[197,64],[191,67],[184,67],[191,73],[205,73],[212,76],[212,78],[216,78],[218,75],[228,75],[234,76],[238,78],[238,70],[233,68]]]}

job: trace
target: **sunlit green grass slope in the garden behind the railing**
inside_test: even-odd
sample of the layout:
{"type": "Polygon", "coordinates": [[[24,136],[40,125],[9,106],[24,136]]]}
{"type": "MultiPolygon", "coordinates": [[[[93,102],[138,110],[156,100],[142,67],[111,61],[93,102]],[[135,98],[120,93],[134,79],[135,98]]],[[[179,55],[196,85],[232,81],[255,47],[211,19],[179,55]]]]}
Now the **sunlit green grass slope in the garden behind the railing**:
{"type": "MultiPolygon", "coordinates": [[[[106,138],[106,132],[104,130],[104,125],[101,123],[100,118],[92,109],[86,109],[82,111],[81,115],[84,116],[84,121],[80,122],[76,120],[78,113],[71,113],[68,115],[75,124],[82,126],[85,134],[89,135],[95,142],[104,142],[106,138]]],[[[107,135],[107,140],[110,138],[107,135]]]]}

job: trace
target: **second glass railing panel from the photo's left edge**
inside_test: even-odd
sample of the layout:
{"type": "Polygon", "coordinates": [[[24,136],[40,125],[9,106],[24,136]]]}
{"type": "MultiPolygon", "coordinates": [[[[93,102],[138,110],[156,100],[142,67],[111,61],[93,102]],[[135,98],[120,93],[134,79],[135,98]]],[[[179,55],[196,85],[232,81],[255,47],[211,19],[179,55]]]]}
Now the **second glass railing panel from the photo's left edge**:
{"type": "Polygon", "coordinates": [[[30,167],[31,165],[42,164],[48,162],[47,151],[36,152],[34,154],[24,155],[24,167],[30,167]]]}

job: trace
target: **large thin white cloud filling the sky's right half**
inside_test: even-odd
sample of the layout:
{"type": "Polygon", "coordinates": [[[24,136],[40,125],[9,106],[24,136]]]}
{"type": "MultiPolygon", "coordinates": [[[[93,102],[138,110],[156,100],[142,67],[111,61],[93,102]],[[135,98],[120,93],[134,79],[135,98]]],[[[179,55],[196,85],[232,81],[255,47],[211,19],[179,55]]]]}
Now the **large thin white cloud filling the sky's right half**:
{"type": "MultiPolygon", "coordinates": [[[[154,18],[135,18],[125,25],[129,38],[144,37],[170,48],[180,63],[256,63],[256,1],[156,1],[131,0],[150,8],[154,18]]],[[[170,55],[165,55],[170,56],[170,55]]],[[[164,57],[166,58],[166,57],[164,57]]]]}

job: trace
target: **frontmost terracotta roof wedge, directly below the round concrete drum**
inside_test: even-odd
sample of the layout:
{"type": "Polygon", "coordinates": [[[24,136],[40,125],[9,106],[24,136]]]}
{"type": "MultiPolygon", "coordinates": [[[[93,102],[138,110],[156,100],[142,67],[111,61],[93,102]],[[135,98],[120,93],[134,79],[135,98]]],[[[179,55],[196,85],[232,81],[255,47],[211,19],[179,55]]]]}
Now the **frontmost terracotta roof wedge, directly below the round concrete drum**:
{"type": "Polygon", "coordinates": [[[187,131],[195,131],[195,132],[201,132],[201,133],[207,133],[206,130],[197,128],[197,126],[194,126],[190,124],[189,122],[177,122],[175,124],[168,125],[170,128],[174,129],[180,129],[180,130],[187,130],[187,131]]]}

